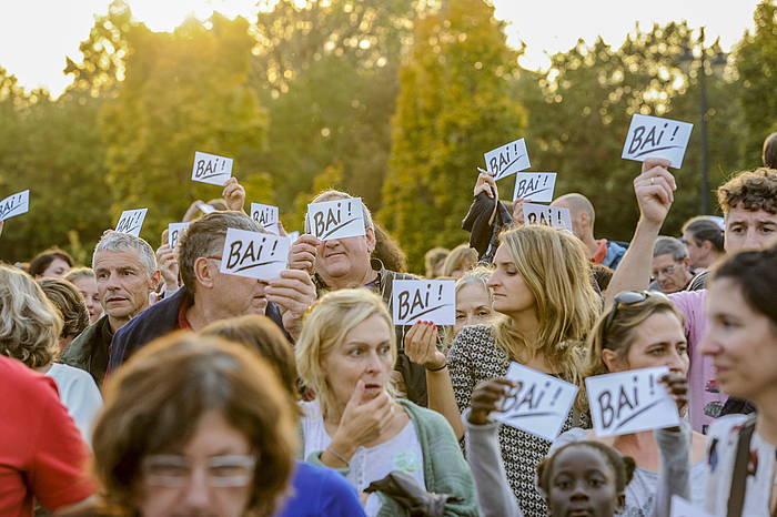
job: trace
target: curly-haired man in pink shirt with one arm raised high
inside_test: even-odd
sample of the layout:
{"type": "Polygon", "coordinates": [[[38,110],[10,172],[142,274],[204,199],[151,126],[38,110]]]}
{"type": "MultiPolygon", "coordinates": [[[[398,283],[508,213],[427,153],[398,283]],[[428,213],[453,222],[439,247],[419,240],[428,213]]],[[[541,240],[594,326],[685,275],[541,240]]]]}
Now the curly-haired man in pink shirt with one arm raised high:
{"type": "MultiPolygon", "coordinates": [[[[613,275],[607,290],[608,302],[622,291],[644,288],[652,266],[653,245],[674,202],[677,184],[663,159],[648,159],[643,173],[634,180],[634,191],[640,217],[624,260],[613,275]]],[[[718,187],[718,203],[724,213],[726,253],[763,250],[777,236],[777,170],[760,168],[744,171],[718,187]]],[[[728,404],[719,393],[715,371],[708,356],[697,346],[706,331],[705,305],[707,291],[682,291],[669,298],[685,316],[690,371],[689,416],[694,430],[704,433],[722,414],[746,409],[741,404],[728,404]]]]}

